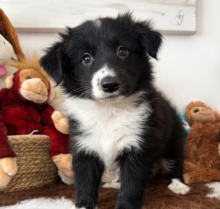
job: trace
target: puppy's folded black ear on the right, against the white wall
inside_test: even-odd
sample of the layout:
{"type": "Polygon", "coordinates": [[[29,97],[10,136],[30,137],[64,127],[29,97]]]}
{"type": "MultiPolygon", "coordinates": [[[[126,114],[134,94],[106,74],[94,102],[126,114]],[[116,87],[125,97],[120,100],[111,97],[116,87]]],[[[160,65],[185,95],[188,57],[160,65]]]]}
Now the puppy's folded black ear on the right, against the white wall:
{"type": "Polygon", "coordinates": [[[149,22],[136,23],[141,44],[146,52],[153,58],[157,59],[157,52],[162,43],[162,35],[151,29],[149,22]]]}

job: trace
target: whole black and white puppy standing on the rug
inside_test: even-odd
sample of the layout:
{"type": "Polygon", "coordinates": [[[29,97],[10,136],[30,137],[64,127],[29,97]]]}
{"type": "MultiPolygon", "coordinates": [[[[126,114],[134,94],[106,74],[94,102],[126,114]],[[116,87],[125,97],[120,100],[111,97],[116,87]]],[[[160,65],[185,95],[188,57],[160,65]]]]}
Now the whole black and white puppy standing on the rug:
{"type": "Polygon", "coordinates": [[[116,209],[140,209],[146,184],[160,162],[175,193],[183,183],[184,130],[175,109],[153,85],[150,57],[161,34],[130,14],[86,21],[61,34],[42,57],[62,84],[74,155],[74,208],[94,209],[106,168],[118,169],[116,209]]]}

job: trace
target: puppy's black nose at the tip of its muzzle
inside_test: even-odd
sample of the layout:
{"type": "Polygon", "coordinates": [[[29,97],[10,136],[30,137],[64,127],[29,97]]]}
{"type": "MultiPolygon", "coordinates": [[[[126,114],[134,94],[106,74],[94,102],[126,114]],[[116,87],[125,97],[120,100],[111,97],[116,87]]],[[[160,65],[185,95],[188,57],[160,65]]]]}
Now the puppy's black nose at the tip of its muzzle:
{"type": "Polygon", "coordinates": [[[101,87],[104,92],[115,92],[119,89],[120,83],[117,77],[107,76],[101,80],[101,87]]]}

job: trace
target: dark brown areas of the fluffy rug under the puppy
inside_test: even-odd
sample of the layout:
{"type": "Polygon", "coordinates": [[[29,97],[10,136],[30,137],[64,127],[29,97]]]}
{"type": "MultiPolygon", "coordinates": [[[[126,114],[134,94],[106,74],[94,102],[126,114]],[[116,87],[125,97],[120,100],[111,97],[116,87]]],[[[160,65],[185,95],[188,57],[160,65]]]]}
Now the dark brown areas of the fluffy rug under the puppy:
{"type": "MultiPolygon", "coordinates": [[[[142,209],[219,209],[220,201],[207,198],[208,193],[209,189],[207,187],[195,184],[192,185],[187,195],[176,195],[167,188],[167,181],[155,179],[148,186],[142,209]]],[[[114,208],[117,194],[118,190],[116,189],[100,188],[98,208],[114,208]]],[[[13,205],[18,201],[38,197],[53,199],[65,197],[74,201],[75,190],[72,186],[56,183],[29,191],[0,193],[0,205],[13,205]]]]}

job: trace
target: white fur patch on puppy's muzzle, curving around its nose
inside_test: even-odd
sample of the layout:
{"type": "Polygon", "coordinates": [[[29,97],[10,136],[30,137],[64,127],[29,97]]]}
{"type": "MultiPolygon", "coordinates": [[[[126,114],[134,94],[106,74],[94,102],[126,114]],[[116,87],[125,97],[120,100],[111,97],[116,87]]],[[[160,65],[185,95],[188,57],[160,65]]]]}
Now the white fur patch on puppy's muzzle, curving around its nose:
{"type": "Polygon", "coordinates": [[[92,94],[95,98],[103,98],[105,95],[110,93],[105,93],[101,88],[101,80],[108,76],[116,76],[115,71],[109,68],[107,65],[104,65],[100,68],[92,78],[92,94]]]}

